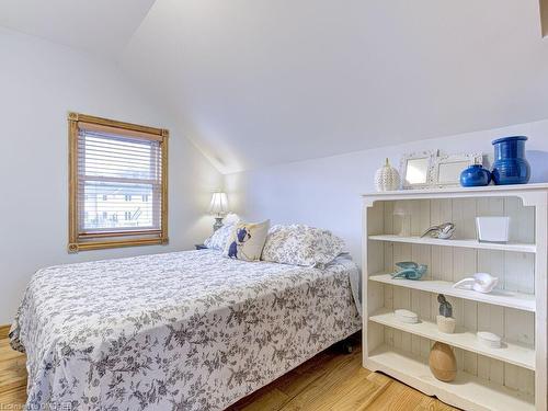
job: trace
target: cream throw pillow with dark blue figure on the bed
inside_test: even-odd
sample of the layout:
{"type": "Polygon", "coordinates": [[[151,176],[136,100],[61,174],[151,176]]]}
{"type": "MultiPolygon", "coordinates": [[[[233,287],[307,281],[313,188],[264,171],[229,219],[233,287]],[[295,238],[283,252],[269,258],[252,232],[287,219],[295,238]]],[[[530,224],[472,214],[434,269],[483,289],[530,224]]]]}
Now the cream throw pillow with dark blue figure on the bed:
{"type": "Polygon", "coordinates": [[[269,233],[270,220],[263,222],[240,221],[232,227],[222,255],[229,259],[259,261],[269,233]]]}

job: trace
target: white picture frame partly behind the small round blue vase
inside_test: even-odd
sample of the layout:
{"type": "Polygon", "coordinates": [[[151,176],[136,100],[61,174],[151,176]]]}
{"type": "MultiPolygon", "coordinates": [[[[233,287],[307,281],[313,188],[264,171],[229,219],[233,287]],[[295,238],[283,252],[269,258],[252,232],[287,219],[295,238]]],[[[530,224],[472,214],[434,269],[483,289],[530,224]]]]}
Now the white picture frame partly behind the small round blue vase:
{"type": "Polygon", "coordinates": [[[447,155],[434,160],[431,186],[455,187],[460,185],[460,173],[472,164],[481,164],[483,156],[478,152],[447,155]]]}

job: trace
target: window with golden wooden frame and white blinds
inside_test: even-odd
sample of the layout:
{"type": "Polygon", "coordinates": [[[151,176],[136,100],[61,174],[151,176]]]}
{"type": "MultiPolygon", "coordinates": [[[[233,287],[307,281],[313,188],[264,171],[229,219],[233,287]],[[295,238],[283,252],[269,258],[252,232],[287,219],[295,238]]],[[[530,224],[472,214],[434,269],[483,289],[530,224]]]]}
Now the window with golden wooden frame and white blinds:
{"type": "Polygon", "coordinates": [[[69,114],[70,252],[168,242],[168,136],[69,114]]]}

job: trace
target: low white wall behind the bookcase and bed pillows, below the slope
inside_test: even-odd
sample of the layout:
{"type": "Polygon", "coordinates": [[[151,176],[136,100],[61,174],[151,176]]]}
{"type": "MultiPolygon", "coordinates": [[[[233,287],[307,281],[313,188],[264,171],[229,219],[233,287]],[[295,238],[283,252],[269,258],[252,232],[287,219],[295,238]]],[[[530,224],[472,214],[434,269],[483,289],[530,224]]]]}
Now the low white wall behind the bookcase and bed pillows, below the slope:
{"type": "Polygon", "coordinates": [[[548,181],[548,119],[347,155],[274,165],[226,175],[232,208],[250,220],[302,222],[329,228],[361,260],[361,194],[374,191],[375,171],[388,157],[396,168],[403,152],[441,149],[481,151],[492,157],[495,137],[525,135],[530,182],[548,181]]]}

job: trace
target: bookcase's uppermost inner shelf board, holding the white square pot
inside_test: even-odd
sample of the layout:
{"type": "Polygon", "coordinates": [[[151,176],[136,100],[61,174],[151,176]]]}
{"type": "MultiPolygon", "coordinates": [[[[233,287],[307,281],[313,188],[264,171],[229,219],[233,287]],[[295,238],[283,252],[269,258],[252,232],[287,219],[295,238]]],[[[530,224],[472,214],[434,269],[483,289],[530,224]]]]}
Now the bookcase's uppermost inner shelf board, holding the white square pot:
{"type": "Polygon", "coordinates": [[[402,237],[392,235],[383,236],[369,236],[369,240],[373,241],[390,241],[390,242],[404,242],[409,244],[425,244],[425,246],[442,246],[442,247],[459,247],[466,249],[481,249],[481,250],[499,250],[499,251],[514,251],[514,252],[526,252],[536,253],[536,244],[527,243],[492,243],[492,242],[480,242],[478,240],[441,240],[438,238],[431,237],[402,237]]]}

